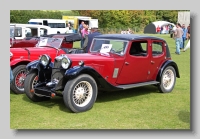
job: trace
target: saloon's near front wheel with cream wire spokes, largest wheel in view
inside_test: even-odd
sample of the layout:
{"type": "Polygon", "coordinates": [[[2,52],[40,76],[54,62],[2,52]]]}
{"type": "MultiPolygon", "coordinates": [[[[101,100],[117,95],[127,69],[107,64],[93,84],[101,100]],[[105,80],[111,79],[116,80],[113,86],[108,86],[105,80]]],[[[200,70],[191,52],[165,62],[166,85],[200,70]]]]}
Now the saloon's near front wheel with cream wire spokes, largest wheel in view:
{"type": "Polygon", "coordinates": [[[93,107],[97,94],[98,89],[95,80],[90,75],[82,74],[67,82],[63,91],[63,99],[67,108],[72,112],[79,113],[90,110],[93,107]],[[77,92],[83,91],[82,94],[78,94],[77,92],[73,93],[75,89],[77,92]],[[86,89],[89,91],[86,91],[86,89]],[[89,93],[89,95],[87,94],[86,96],[86,92],[89,93]],[[82,100],[84,100],[81,104],[78,104],[78,100],[81,100],[81,98],[78,99],[78,97],[81,97],[81,95],[84,97],[82,100]]]}

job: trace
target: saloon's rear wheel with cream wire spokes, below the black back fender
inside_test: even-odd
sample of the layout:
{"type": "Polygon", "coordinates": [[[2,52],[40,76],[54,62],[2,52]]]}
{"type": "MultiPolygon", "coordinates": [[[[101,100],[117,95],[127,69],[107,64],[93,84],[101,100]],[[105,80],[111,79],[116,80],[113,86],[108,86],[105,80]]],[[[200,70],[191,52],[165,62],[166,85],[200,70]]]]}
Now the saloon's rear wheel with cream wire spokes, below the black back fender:
{"type": "Polygon", "coordinates": [[[175,83],[176,71],[172,66],[168,66],[162,73],[158,89],[162,93],[169,93],[174,89],[175,83]]]}

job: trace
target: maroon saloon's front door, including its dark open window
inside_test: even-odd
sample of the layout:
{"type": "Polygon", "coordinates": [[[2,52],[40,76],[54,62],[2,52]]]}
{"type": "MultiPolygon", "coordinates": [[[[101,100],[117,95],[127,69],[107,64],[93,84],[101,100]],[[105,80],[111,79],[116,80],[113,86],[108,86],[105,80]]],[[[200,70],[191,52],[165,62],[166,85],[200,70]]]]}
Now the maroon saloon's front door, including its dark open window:
{"type": "Polygon", "coordinates": [[[148,40],[132,42],[126,52],[124,65],[116,81],[117,84],[134,84],[149,80],[148,71],[151,58],[149,55],[149,43],[148,40]]]}

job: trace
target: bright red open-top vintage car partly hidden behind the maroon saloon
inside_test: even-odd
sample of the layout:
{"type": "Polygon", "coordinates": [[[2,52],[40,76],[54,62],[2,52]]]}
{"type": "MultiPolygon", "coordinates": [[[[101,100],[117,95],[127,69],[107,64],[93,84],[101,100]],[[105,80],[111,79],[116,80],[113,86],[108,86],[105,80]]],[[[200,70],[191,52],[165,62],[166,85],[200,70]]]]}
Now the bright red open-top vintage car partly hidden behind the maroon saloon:
{"type": "Polygon", "coordinates": [[[73,48],[73,42],[80,41],[80,39],[80,35],[76,33],[57,34],[52,37],[40,37],[36,47],[10,48],[10,66],[14,76],[10,89],[16,94],[24,93],[26,65],[31,61],[37,60],[42,54],[46,53],[54,60],[60,54],[76,53],[76,51],[83,52],[83,50],[73,48]]]}

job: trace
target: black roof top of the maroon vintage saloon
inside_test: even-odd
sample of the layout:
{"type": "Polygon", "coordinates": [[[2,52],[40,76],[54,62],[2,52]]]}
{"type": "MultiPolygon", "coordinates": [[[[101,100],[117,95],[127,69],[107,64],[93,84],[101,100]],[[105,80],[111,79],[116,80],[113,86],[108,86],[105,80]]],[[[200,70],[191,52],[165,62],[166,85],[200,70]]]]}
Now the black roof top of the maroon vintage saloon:
{"type": "Polygon", "coordinates": [[[147,35],[139,35],[139,34],[103,34],[95,36],[94,38],[103,38],[103,39],[119,39],[119,40],[138,40],[138,39],[156,39],[165,41],[162,38],[147,36],[147,35]]]}

